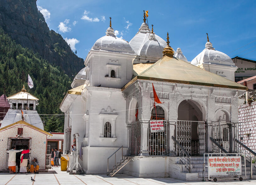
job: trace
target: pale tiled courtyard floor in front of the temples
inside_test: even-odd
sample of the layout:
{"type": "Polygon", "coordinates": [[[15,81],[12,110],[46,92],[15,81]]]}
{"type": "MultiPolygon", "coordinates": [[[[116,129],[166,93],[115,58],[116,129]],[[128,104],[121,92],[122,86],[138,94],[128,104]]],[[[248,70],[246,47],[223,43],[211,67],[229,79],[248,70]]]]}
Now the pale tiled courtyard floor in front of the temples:
{"type": "Polygon", "coordinates": [[[40,174],[8,174],[0,173],[0,184],[5,185],[36,185],[36,184],[49,184],[49,185],[59,185],[59,184],[71,184],[71,185],[132,185],[132,184],[191,184],[191,185],[203,185],[203,184],[256,184],[255,180],[246,181],[198,181],[198,182],[186,182],[173,178],[138,178],[132,177],[124,174],[120,174],[114,177],[109,177],[106,175],[69,175],[65,171],[60,171],[60,167],[54,167],[49,170],[48,173],[40,174]],[[31,182],[31,177],[36,181],[31,182]]]}

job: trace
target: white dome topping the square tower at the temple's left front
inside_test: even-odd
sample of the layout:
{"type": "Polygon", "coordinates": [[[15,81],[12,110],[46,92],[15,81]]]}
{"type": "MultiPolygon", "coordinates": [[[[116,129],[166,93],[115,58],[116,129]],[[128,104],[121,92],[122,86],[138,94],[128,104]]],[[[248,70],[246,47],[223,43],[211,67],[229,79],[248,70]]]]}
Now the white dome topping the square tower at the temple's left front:
{"type": "Polygon", "coordinates": [[[113,28],[107,29],[106,35],[99,38],[93,45],[94,50],[105,50],[121,53],[134,53],[130,44],[124,39],[115,36],[113,28]]]}

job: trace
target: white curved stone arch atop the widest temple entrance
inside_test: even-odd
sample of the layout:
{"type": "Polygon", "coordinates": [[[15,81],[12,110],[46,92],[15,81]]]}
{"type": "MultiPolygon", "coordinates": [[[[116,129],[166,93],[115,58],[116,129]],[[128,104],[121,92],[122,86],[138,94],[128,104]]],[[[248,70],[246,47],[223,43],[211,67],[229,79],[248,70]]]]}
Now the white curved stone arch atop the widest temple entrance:
{"type": "Polygon", "coordinates": [[[192,106],[194,106],[197,109],[197,111],[200,110],[200,112],[202,112],[202,120],[198,119],[198,121],[207,121],[206,104],[202,101],[202,99],[195,98],[195,97],[181,98],[177,103],[177,115],[178,115],[179,105],[184,100],[190,101],[192,103],[192,106]]]}

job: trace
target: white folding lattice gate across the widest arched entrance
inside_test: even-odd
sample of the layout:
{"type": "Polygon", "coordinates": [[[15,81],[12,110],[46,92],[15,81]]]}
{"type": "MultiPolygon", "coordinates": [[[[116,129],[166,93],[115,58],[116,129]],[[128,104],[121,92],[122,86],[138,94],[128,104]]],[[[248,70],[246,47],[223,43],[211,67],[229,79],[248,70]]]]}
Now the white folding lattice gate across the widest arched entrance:
{"type": "MultiPolygon", "coordinates": [[[[176,124],[176,140],[191,155],[203,156],[205,153],[205,125],[204,121],[177,121],[176,124]],[[198,144],[191,140],[191,123],[197,123],[198,144]]],[[[176,151],[178,151],[176,149],[176,151]]],[[[178,154],[179,155],[179,154],[178,154]]]]}

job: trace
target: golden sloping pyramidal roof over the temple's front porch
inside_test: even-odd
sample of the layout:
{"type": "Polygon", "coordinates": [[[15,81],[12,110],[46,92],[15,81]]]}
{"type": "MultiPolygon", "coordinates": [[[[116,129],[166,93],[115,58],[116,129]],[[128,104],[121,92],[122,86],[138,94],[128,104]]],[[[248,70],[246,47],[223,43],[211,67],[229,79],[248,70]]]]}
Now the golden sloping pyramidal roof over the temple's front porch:
{"type": "Polygon", "coordinates": [[[167,81],[173,83],[183,83],[211,87],[224,87],[233,89],[247,90],[248,88],[228,80],[217,74],[203,70],[195,65],[189,64],[175,57],[171,58],[163,56],[155,64],[135,76],[122,90],[127,88],[132,82],[137,79],[167,81]]]}

